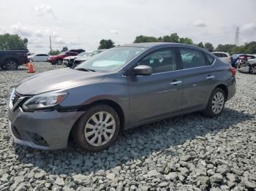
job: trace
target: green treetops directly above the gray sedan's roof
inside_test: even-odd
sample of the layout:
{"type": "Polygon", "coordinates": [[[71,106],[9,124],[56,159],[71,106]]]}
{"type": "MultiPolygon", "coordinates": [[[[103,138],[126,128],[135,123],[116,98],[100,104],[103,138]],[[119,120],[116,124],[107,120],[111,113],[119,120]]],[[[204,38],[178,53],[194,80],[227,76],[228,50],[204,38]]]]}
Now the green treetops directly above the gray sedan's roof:
{"type": "Polygon", "coordinates": [[[135,38],[135,43],[140,43],[140,42],[176,42],[176,43],[184,43],[184,44],[193,44],[192,39],[189,38],[180,38],[178,34],[173,33],[165,36],[160,36],[160,37],[154,37],[154,36],[136,36],[135,38]]]}

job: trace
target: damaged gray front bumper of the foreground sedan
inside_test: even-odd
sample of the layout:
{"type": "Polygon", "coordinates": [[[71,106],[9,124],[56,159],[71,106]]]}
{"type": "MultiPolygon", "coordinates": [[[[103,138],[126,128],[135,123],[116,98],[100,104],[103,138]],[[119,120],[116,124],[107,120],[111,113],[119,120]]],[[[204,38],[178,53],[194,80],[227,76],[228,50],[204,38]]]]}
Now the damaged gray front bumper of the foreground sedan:
{"type": "Polygon", "coordinates": [[[64,149],[83,112],[23,112],[9,110],[10,133],[17,144],[37,149],[64,149]]]}

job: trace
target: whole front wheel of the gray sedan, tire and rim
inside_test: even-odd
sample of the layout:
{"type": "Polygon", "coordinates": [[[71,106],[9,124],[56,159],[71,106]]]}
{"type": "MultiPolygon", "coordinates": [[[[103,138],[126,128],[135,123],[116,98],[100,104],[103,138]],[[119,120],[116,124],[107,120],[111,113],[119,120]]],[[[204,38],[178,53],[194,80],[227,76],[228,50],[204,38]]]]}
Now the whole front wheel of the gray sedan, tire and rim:
{"type": "Polygon", "coordinates": [[[96,105],[89,108],[78,120],[73,131],[73,140],[83,150],[99,152],[116,141],[119,130],[120,119],[116,110],[108,105],[96,105]]]}

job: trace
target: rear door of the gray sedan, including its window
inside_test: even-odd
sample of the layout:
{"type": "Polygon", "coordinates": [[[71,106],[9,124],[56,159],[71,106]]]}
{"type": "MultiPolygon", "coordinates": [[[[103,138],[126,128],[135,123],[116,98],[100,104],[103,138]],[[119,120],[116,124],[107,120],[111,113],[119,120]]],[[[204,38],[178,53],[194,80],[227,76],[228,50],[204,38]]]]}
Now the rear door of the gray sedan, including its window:
{"type": "Polygon", "coordinates": [[[216,77],[211,64],[214,58],[200,50],[180,47],[183,79],[183,110],[193,110],[204,106],[214,88],[216,77]]]}

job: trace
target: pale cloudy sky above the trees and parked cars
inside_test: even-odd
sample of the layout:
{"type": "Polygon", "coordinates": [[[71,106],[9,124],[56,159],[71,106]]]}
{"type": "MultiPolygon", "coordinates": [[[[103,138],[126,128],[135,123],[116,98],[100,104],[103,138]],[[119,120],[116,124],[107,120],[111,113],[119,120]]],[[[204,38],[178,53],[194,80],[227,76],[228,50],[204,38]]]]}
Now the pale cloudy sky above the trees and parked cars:
{"type": "Polygon", "coordinates": [[[1,0],[0,34],[29,39],[29,50],[96,50],[101,39],[132,43],[138,35],[178,33],[195,43],[256,41],[256,0],[1,0]]]}

